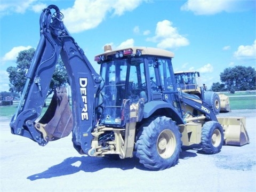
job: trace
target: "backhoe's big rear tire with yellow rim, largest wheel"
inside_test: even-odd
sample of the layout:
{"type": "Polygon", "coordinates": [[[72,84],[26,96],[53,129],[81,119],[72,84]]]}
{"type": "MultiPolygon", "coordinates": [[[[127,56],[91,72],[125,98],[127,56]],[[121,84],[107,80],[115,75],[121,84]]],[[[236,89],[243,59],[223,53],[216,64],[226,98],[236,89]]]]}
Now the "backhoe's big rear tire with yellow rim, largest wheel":
{"type": "Polygon", "coordinates": [[[177,164],[182,144],[176,123],[162,116],[144,125],[135,145],[140,163],[151,170],[164,170],[177,164]]]}

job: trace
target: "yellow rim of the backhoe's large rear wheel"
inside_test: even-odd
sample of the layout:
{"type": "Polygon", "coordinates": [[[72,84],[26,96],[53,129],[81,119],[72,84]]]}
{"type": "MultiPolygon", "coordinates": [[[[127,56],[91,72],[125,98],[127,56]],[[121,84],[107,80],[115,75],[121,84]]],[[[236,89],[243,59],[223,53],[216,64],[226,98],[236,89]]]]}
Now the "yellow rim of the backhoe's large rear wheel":
{"type": "Polygon", "coordinates": [[[176,148],[175,135],[171,130],[163,130],[157,138],[157,152],[162,158],[169,158],[176,148]]]}

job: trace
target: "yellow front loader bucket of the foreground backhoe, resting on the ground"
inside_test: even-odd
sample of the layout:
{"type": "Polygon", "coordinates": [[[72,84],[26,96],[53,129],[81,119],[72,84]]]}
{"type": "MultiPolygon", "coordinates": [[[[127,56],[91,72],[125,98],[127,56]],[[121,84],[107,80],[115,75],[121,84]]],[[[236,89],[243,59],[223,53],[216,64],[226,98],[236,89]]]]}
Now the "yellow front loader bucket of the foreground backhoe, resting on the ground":
{"type": "Polygon", "coordinates": [[[224,145],[243,146],[250,143],[245,128],[245,117],[218,117],[224,130],[224,145]]]}

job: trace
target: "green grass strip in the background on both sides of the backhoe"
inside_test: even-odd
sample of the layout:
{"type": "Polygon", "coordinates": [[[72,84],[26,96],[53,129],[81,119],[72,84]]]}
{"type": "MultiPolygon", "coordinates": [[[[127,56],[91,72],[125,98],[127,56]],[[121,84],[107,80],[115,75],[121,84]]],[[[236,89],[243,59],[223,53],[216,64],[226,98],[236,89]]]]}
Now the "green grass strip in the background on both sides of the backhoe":
{"type": "MultiPolygon", "coordinates": [[[[256,109],[256,93],[255,92],[237,92],[235,94],[225,93],[230,96],[230,107],[231,110],[236,109],[256,109]],[[247,96],[247,97],[232,97],[232,96],[247,96]]],[[[46,100],[49,105],[50,100],[46,100]]],[[[11,118],[17,111],[18,103],[14,102],[12,106],[0,106],[0,116],[11,118]]],[[[43,108],[42,114],[45,113],[46,107],[43,108]]]]}

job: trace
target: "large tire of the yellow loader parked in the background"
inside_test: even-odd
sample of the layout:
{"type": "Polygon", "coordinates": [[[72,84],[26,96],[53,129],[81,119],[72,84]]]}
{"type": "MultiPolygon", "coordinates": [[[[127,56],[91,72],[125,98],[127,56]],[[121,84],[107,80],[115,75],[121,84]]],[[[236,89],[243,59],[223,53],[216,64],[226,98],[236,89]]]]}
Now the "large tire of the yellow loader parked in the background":
{"type": "Polygon", "coordinates": [[[213,91],[206,91],[204,93],[204,100],[212,107],[215,115],[220,113],[220,97],[217,93],[214,93],[213,91]]]}

